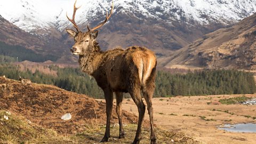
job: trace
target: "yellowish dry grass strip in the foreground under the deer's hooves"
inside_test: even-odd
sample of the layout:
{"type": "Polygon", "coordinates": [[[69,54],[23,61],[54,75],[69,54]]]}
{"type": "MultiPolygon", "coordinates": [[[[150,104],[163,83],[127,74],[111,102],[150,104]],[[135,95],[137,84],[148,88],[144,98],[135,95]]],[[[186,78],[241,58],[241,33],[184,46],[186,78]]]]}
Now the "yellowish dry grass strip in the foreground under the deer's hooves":
{"type": "MultiPolygon", "coordinates": [[[[25,117],[14,113],[7,114],[5,110],[0,110],[0,143],[98,143],[103,137],[105,126],[99,124],[94,129],[94,122],[87,123],[88,127],[84,132],[77,134],[61,135],[52,129],[45,129],[42,126],[36,125],[28,121],[25,117]],[[6,120],[3,117],[8,116],[6,120]]],[[[89,122],[89,121],[88,121],[89,122]]],[[[124,125],[126,132],[125,139],[118,139],[119,127],[113,125],[111,127],[111,138],[107,143],[131,143],[135,135],[137,125],[124,125]]],[[[165,131],[161,128],[156,128],[158,143],[199,143],[191,137],[187,137],[182,133],[174,131],[165,131]]],[[[149,143],[150,129],[149,127],[142,128],[141,143],[149,143]]]]}

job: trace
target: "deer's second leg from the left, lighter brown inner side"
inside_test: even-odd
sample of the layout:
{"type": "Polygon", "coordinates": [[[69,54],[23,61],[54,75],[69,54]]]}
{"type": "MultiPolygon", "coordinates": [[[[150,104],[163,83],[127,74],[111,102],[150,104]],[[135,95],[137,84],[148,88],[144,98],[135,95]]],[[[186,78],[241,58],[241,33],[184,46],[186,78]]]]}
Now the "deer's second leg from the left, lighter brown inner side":
{"type": "Polygon", "coordinates": [[[125,133],[123,129],[122,123],[122,102],[123,102],[123,93],[122,92],[115,92],[116,94],[116,113],[119,120],[119,139],[124,138],[125,133]]]}

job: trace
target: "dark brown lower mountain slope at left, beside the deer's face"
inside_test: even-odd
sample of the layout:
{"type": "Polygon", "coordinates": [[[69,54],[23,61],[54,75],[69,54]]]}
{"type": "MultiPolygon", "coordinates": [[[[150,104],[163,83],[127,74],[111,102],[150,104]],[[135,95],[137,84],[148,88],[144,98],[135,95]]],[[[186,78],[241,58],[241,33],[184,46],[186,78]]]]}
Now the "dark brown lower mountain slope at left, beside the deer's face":
{"type": "MultiPolygon", "coordinates": [[[[61,59],[63,55],[71,55],[69,51],[66,51],[68,45],[60,41],[63,36],[58,34],[59,32],[54,33],[54,30],[51,30],[52,35],[47,37],[33,35],[13,25],[1,15],[0,25],[0,55],[21,58],[24,56],[22,52],[29,52],[28,54],[33,54],[31,56],[38,57],[38,60],[35,60],[36,62],[43,62],[43,59],[56,61],[59,58],[61,59]],[[47,57],[52,58],[45,59],[47,57]]],[[[69,58],[72,59],[73,57],[69,56],[69,58]]]]}

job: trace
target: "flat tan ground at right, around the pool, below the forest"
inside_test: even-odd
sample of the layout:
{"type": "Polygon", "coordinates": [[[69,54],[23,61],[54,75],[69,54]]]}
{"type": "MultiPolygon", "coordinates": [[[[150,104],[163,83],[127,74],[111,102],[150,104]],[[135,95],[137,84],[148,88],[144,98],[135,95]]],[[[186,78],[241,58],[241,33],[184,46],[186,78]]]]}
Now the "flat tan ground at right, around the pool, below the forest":
{"type": "MultiPolygon", "coordinates": [[[[217,126],[228,123],[256,123],[256,119],[253,119],[256,117],[255,105],[222,105],[219,102],[220,99],[241,96],[154,98],[154,123],[165,130],[183,132],[203,143],[256,143],[256,133],[226,132],[217,129],[217,126]]],[[[245,96],[256,97],[256,94],[245,96]]],[[[132,99],[123,101],[123,109],[138,115],[137,107],[132,99]]],[[[149,119],[147,113],[146,111],[145,119],[149,119]]]]}

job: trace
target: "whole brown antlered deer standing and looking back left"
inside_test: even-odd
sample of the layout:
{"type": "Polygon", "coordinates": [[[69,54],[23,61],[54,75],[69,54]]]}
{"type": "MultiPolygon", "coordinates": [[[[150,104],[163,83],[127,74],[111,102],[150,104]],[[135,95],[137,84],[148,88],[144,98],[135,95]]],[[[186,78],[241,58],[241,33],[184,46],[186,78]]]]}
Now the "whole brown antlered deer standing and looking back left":
{"type": "Polygon", "coordinates": [[[112,1],[110,13],[108,14],[107,11],[105,20],[94,28],[89,28],[89,25],[87,25],[88,30],[86,32],[80,31],[75,22],[75,14],[79,7],[76,7],[75,1],[72,19],[66,14],[76,31],[72,29],[66,29],[66,31],[74,38],[75,44],[70,51],[74,55],[78,55],[78,63],[81,70],[94,77],[104,93],[107,121],[105,134],[100,142],[106,142],[110,138],[110,117],[113,109],[114,94],[116,95],[116,113],[119,121],[119,139],[125,138],[122,124],[122,101],[123,93],[129,93],[139,112],[137,132],[132,143],[139,143],[141,140],[141,126],[146,108],[142,95],[147,103],[149,114],[150,143],[156,143],[152,105],[157,65],[154,52],[141,46],[101,51],[96,40],[98,36],[97,29],[105,25],[111,17],[114,2],[112,1]]]}

